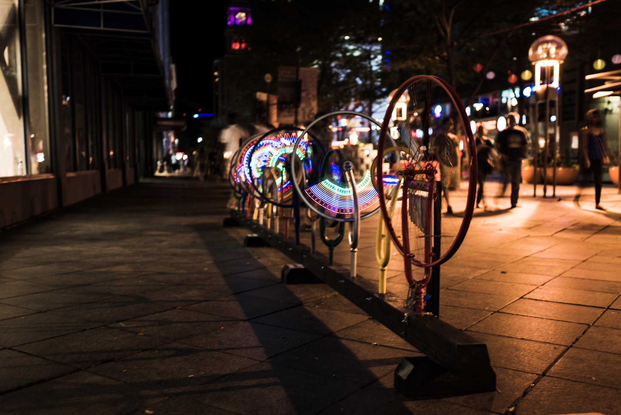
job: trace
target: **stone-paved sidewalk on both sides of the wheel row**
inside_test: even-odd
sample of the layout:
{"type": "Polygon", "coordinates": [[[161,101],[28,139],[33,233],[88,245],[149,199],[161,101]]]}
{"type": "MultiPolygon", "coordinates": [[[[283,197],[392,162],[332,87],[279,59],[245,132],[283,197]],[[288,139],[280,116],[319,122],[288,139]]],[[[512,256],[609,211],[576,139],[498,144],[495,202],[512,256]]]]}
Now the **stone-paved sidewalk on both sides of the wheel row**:
{"type": "Polygon", "coordinates": [[[574,191],[476,212],[441,314],[487,342],[498,390],[443,399],[396,393],[416,350],[328,286],[279,283],[288,258],[222,228],[225,185],[156,180],[5,230],[0,413],[621,414],[621,197],[599,212],[574,191]]]}

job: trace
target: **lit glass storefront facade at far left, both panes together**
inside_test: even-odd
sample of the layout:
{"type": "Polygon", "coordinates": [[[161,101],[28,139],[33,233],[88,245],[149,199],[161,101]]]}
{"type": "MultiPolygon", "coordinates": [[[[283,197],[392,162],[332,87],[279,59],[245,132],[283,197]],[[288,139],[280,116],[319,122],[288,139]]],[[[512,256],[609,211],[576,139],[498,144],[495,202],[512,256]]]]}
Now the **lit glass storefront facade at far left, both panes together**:
{"type": "Polygon", "coordinates": [[[0,0],[2,177],[51,171],[43,0],[21,4],[0,0]]]}

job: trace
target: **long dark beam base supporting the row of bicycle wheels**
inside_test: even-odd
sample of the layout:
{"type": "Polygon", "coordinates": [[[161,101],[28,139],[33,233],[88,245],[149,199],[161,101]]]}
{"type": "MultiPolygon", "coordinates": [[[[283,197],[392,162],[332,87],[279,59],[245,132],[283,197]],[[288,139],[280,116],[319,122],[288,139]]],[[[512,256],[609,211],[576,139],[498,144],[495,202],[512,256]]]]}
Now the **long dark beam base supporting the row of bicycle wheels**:
{"type": "Polygon", "coordinates": [[[406,301],[390,292],[378,294],[376,282],[360,275],[351,278],[349,268],[328,265],[325,255],[311,255],[306,245],[295,245],[238,211],[232,210],[231,217],[425,354],[406,358],[397,367],[395,388],[400,393],[428,397],[496,390],[496,373],[483,342],[433,315],[406,317],[406,301]]]}

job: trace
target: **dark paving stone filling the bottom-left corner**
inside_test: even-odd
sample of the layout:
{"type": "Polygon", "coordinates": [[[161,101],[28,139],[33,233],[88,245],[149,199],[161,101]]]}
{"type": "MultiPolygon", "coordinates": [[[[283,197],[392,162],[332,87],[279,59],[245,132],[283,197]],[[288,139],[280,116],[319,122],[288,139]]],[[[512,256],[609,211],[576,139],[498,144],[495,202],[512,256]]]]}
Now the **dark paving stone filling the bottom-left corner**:
{"type": "Polygon", "coordinates": [[[160,399],[153,391],[77,372],[0,395],[0,408],[2,415],[110,415],[125,414],[160,399]]]}

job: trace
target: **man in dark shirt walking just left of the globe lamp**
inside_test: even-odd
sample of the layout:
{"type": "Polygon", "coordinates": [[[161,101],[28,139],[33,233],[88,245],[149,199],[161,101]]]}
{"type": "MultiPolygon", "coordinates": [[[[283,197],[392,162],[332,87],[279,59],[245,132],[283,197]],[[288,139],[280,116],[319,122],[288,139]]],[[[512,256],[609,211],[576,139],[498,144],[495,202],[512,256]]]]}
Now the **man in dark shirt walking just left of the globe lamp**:
{"type": "Polygon", "coordinates": [[[515,126],[515,117],[509,117],[509,127],[498,134],[496,147],[501,154],[507,173],[511,178],[511,208],[517,207],[522,181],[522,159],[528,151],[528,140],[524,132],[515,126]]]}

